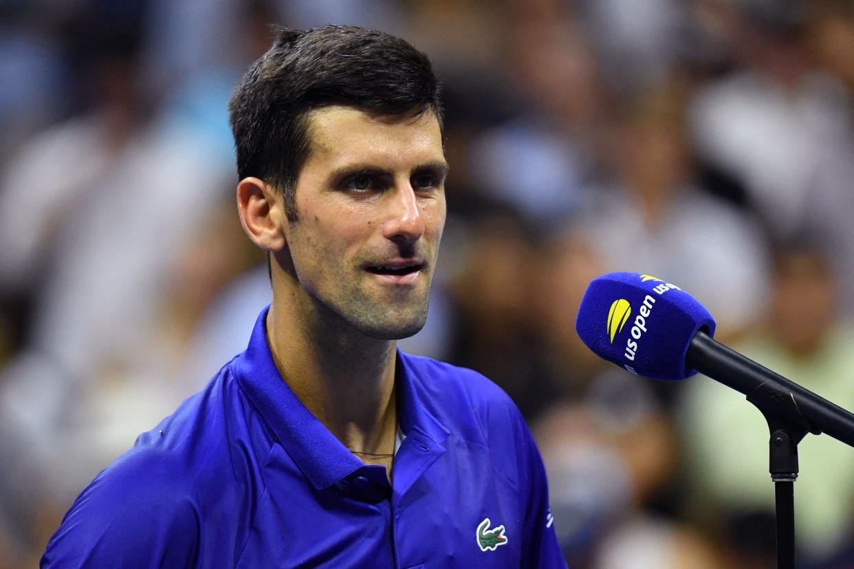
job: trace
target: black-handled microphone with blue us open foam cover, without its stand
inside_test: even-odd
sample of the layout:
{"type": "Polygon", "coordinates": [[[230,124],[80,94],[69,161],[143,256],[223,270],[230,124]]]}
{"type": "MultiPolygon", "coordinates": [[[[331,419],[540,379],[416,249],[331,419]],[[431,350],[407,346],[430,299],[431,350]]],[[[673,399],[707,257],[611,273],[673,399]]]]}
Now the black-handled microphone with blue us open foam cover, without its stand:
{"type": "Polygon", "coordinates": [[[682,380],[700,372],[746,395],[766,417],[854,446],[854,415],[713,340],[715,326],[690,294],[638,273],[595,278],[576,318],[588,348],[633,374],[682,380]]]}

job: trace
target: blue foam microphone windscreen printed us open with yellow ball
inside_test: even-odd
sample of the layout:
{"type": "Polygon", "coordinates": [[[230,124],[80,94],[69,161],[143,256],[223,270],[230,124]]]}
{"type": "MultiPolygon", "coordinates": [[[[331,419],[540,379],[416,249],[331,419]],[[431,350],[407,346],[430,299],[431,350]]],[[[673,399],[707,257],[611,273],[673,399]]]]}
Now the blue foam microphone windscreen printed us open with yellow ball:
{"type": "Polygon", "coordinates": [[[654,276],[609,273],[594,279],[578,309],[576,331],[596,355],[630,372],[681,380],[691,339],[715,320],[679,287],[654,276]]]}

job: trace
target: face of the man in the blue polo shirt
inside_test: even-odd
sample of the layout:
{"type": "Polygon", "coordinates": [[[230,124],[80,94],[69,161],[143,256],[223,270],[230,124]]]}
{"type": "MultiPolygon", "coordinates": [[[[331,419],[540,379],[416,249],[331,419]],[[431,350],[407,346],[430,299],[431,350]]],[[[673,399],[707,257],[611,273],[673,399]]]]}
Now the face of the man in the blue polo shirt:
{"type": "Polygon", "coordinates": [[[377,117],[325,107],[309,118],[310,153],[286,238],[299,285],[382,340],[418,332],[445,224],[447,172],[433,113],[377,117]]]}

